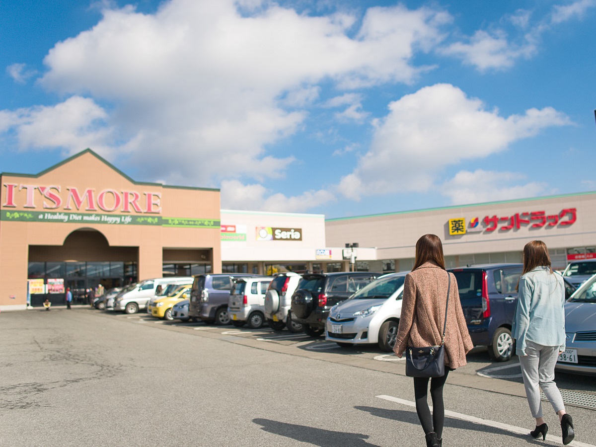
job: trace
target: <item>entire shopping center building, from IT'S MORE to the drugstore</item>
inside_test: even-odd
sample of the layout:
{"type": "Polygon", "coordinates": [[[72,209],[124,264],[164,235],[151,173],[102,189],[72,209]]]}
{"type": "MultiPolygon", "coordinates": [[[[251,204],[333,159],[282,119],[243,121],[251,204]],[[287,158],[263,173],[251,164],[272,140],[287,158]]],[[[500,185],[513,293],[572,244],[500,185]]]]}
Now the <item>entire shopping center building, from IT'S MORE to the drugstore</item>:
{"type": "Polygon", "coordinates": [[[521,262],[533,239],[554,268],[596,257],[596,193],[325,220],[222,210],[217,189],[136,182],[89,149],[0,184],[3,311],[164,276],[410,270],[426,233],[448,267],[521,262]]]}

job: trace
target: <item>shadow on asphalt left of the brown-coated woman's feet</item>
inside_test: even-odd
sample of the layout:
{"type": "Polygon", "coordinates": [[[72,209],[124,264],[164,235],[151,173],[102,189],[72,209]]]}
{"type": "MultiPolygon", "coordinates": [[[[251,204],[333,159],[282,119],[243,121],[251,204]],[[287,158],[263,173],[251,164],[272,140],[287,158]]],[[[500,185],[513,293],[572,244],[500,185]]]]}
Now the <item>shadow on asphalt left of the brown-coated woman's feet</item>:
{"type": "Polygon", "coordinates": [[[262,426],[261,430],[265,430],[265,432],[280,434],[319,447],[374,446],[374,444],[365,441],[368,439],[368,434],[334,432],[333,430],[315,429],[271,419],[253,419],[253,422],[262,426]]]}

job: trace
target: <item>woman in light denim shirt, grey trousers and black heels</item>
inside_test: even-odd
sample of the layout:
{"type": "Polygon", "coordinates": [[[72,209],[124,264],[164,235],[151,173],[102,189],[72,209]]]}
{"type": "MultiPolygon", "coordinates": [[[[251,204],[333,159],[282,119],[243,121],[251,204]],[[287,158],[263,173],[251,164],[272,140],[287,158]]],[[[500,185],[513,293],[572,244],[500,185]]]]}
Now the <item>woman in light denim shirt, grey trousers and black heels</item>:
{"type": "Polygon", "coordinates": [[[565,350],[565,286],[563,277],[551,269],[551,258],[542,241],[523,247],[523,272],[517,283],[517,307],[511,333],[516,339],[522,378],[530,412],[536,418],[532,437],[547,437],[540,389],[559,417],[563,444],[575,437],[573,420],[565,411],[561,392],[554,382],[558,355],[565,350]]]}

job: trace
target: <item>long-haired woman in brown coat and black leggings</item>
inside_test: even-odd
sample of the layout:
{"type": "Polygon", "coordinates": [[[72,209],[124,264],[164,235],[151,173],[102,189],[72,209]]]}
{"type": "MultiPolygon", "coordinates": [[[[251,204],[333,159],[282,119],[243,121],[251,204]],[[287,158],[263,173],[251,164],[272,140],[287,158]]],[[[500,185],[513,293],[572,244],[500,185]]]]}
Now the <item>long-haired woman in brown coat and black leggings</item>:
{"type": "Polygon", "coordinates": [[[449,306],[445,329],[445,375],[430,381],[430,397],[433,415],[430,415],[427,393],[429,379],[414,377],[416,412],[426,436],[426,445],[442,445],[445,407],[443,385],[449,371],[466,364],[465,354],[474,346],[468,334],[464,313],[461,310],[460,293],[453,274],[445,270],[443,246],[439,237],[425,234],[416,243],[414,269],[406,275],[403,284],[402,313],[399,319],[398,337],[393,350],[401,358],[408,346],[439,346],[445,322],[447,289],[451,275],[449,306]]]}

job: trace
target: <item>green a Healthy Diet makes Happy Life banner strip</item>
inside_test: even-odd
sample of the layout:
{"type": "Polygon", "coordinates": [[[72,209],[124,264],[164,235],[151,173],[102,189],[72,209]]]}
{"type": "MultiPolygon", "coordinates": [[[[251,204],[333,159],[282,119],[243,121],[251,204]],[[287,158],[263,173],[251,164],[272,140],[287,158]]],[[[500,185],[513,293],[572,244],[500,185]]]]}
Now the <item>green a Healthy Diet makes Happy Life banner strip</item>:
{"type": "Polygon", "coordinates": [[[162,218],[162,216],[137,216],[115,214],[86,214],[48,211],[7,211],[0,212],[0,221],[17,222],[62,222],[70,224],[108,225],[159,225],[181,228],[218,228],[215,219],[162,218]]]}

